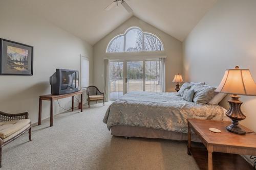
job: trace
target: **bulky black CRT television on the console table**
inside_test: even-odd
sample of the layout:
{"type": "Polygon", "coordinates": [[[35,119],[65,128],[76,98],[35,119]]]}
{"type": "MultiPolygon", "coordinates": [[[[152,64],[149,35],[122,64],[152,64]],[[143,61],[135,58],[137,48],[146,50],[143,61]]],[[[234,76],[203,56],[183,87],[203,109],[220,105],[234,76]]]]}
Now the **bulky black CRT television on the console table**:
{"type": "Polygon", "coordinates": [[[79,75],[77,70],[56,69],[50,77],[52,94],[68,94],[79,91],[79,75]]]}

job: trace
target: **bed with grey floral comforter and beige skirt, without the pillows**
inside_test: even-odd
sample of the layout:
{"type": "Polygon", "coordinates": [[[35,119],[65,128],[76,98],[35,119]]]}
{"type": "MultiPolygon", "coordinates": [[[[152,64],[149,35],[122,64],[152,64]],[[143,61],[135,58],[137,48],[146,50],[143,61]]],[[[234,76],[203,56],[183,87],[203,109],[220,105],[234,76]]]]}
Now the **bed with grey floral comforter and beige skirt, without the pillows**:
{"type": "Polygon", "coordinates": [[[177,93],[130,92],[109,106],[103,122],[114,136],[187,140],[187,118],[223,120],[225,111],[187,102],[177,93]]]}

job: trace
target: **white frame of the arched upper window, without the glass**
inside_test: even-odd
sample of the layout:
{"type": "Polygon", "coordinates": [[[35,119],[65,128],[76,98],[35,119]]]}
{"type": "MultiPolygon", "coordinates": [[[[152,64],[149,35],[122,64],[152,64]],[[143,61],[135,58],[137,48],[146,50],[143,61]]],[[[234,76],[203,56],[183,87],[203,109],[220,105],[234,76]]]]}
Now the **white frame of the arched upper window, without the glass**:
{"type": "Polygon", "coordinates": [[[151,53],[152,53],[152,52],[164,52],[164,44],[163,44],[162,40],[161,40],[156,34],[149,33],[149,32],[143,32],[143,30],[142,30],[141,28],[139,28],[139,27],[130,27],[129,29],[127,29],[127,30],[124,32],[124,34],[119,34],[119,35],[115,36],[114,38],[112,38],[112,39],[109,41],[108,45],[106,46],[106,51],[105,51],[106,54],[141,53],[141,52],[143,52],[143,53],[148,53],[148,52],[151,52],[151,53]],[[140,31],[142,32],[142,51],[127,52],[127,51],[125,50],[125,48],[126,48],[126,34],[127,34],[129,31],[133,30],[133,29],[138,29],[138,30],[140,30],[140,31]],[[145,51],[145,35],[151,35],[151,36],[155,37],[156,39],[158,39],[158,40],[160,41],[160,43],[162,44],[162,50],[157,50],[157,51],[145,51]],[[112,42],[113,42],[115,39],[117,39],[117,38],[119,38],[119,37],[121,37],[121,36],[123,36],[123,40],[124,40],[124,42],[123,42],[123,51],[122,51],[122,52],[108,52],[109,46],[112,44],[112,42]]]}

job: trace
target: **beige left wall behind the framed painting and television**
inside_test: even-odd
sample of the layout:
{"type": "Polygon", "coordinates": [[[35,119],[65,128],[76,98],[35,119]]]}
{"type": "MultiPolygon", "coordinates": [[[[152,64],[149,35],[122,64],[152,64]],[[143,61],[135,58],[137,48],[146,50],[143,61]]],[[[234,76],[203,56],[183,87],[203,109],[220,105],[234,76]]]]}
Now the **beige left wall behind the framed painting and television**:
{"type": "MultiPolygon", "coordinates": [[[[38,96],[50,93],[49,77],[56,68],[80,69],[80,54],[90,57],[92,46],[29,13],[20,1],[0,2],[0,37],[34,46],[33,76],[0,76],[0,110],[29,112],[32,123],[38,120],[38,96]]],[[[90,79],[92,84],[92,76],[90,79]]],[[[60,100],[65,108],[71,99],[60,100]]],[[[50,104],[42,105],[42,118],[50,116],[50,104]]],[[[54,114],[63,112],[54,102],[54,114]]]]}

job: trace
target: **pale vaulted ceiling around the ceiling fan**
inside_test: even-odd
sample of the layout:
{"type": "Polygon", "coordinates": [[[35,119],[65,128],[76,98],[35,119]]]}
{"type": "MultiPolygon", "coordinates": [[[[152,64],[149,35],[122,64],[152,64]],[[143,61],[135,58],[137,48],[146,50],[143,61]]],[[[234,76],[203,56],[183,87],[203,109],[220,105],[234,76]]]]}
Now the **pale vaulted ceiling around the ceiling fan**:
{"type": "Polygon", "coordinates": [[[120,5],[105,11],[113,0],[22,1],[27,10],[93,45],[133,15],[183,41],[218,0],[127,0],[133,13],[120,5]]]}

